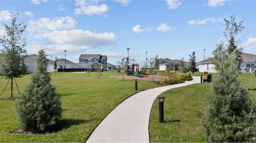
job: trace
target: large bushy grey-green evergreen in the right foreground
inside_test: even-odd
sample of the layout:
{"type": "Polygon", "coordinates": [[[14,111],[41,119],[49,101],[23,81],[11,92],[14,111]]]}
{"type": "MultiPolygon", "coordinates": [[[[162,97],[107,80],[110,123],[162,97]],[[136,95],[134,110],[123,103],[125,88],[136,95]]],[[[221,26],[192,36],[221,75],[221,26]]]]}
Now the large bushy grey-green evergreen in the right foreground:
{"type": "Polygon", "coordinates": [[[203,125],[210,142],[255,142],[256,104],[238,80],[236,52],[223,49],[215,53],[216,70],[212,88],[206,94],[203,125]]]}

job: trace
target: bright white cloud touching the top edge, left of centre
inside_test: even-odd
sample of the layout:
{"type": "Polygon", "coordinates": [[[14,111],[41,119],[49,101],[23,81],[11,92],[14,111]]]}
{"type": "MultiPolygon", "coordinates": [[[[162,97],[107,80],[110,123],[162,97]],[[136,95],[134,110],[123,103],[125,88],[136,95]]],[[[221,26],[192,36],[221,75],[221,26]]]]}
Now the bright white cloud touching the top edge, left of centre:
{"type": "Polygon", "coordinates": [[[76,8],[75,14],[86,14],[86,15],[101,15],[104,12],[108,11],[108,6],[106,4],[102,4],[100,6],[97,5],[98,0],[89,0],[89,1],[82,1],[76,0],[76,6],[80,8],[76,8]]]}

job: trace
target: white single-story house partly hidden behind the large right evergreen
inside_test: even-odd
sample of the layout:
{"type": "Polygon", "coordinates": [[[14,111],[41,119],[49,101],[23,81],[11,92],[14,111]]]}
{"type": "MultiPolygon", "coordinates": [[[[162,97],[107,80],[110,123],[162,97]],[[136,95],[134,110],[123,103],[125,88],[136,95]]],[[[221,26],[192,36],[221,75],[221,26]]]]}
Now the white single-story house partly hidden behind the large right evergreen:
{"type": "MultiPolygon", "coordinates": [[[[198,62],[199,72],[217,72],[213,64],[214,57],[198,62]]],[[[241,72],[252,72],[255,70],[256,55],[242,52],[241,72]]]]}

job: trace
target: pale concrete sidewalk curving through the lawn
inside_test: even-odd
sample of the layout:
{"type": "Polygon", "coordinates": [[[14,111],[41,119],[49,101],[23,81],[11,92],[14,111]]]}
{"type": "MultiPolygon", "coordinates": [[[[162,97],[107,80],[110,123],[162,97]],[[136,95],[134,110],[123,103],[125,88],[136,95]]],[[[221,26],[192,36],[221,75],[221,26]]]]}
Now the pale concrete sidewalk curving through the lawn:
{"type": "Polygon", "coordinates": [[[150,111],[157,96],[172,88],[200,82],[200,76],[193,76],[192,81],[152,88],[134,94],[106,116],[86,143],[149,143],[150,111]]]}

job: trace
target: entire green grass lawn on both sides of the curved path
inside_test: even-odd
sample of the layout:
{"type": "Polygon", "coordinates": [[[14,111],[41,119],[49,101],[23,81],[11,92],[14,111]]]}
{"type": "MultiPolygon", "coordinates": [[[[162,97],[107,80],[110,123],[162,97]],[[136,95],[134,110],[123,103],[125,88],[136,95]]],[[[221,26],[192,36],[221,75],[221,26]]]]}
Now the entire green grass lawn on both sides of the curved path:
{"type": "MultiPolygon", "coordinates": [[[[64,109],[62,121],[66,127],[50,134],[11,133],[20,126],[14,110],[15,101],[0,101],[0,142],[84,142],[95,127],[126,98],[149,88],[159,87],[150,80],[138,80],[135,91],[134,80],[108,78],[117,75],[116,71],[102,72],[100,79],[96,72],[52,73],[52,84],[61,96],[64,109]]],[[[17,78],[20,91],[29,81],[29,75],[17,78]]],[[[251,97],[256,100],[256,77],[254,74],[241,74],[240,80],[252,90],[251,97]]],[[[8,80],[0,78],[0,92],[8,80]]],[[[14,83],[14,85],[16,85],[14,83]]],[[[200,115],[206,105],[205,93],[210,83],[193,84],[163,92],[164,123],[158,123],[158,98],[154,101],[150,115],[151,142],[207,142],[200,125],[200,115]]],[[[10,95],[10,83],[0,98],[10,95]]],[[[14,96],[18,96],[16,86],[14,96]]]]}

